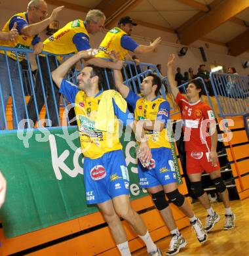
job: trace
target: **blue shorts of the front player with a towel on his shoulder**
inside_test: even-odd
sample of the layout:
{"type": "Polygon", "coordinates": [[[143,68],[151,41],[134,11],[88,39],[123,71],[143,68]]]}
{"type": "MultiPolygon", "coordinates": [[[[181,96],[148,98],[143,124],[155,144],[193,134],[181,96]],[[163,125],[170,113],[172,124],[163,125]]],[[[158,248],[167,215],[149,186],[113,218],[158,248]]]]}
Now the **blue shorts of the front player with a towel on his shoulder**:
{"type": "Polygon", "coordinates": [[[115,196],[128,195],[129,176],[122,150],[101,158],[84,158],[86,203],[104,203],[115,196]]]}

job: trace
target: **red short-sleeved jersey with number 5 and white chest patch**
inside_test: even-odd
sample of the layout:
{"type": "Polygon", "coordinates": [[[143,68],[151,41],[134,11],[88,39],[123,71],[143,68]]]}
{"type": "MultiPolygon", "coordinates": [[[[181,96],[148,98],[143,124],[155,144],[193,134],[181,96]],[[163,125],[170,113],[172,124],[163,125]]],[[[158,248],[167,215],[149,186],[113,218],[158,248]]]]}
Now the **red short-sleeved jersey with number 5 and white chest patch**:
{"type": "Polygon", "coordinates": [[[210,152],[211,137],[208,126],[215,119],[212,108],[201,100],[189,103],[181,93],[178,93],[175,101],[182,113],[185,151],[210,152]]]}

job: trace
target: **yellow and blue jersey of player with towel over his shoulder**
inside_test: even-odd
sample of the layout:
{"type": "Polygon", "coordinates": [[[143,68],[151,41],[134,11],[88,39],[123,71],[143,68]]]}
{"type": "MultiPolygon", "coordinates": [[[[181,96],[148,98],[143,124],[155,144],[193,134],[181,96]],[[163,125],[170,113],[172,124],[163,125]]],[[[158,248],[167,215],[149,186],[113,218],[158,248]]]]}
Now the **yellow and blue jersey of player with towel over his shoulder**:
{"type": "Polygon", "coordinates": [[[98,105],[103,91],[100,91],[94,97],[87,97],[76,85],[63,79],[60,86],[60,93],[65,95],[69,102],[75,103],[74,109],[79,128],[81,150],[86,158],[100,158],[106,152],[122,148],[119,142],[119,119],[123,121],[124,125],[128,121],[133,121],[134,118],[131,118],[128,110],[124,113],[113,100],[115,114],[114,133],[108,133],[107,131],[101,131],[95,128],[98,105]]]}

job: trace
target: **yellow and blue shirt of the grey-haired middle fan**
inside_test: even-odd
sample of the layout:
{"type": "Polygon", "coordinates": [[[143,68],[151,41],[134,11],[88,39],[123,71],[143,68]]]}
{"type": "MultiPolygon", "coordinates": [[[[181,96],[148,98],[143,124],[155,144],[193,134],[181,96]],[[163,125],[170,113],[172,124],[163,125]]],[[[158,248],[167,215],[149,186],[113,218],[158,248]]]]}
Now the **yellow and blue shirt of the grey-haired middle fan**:
{"type": "Polygon", "coordinates": [[[43,51],[54,54],[73,54],[90,49],[90,36],[83,20],[73,20],[48,37],[43,51]]]}

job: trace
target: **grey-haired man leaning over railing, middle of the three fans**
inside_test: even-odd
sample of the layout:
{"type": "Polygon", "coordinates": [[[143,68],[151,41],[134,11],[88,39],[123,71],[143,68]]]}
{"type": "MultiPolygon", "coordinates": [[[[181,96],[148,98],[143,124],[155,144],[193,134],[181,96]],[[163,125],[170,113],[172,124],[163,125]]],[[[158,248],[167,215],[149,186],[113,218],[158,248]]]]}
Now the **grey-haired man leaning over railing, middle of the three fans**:
{"type": "MultiPolygon", "coordinates": [[[[100,30],[104,28],[104,23],[105,14],[102,11],[90,10],[86,14],[85,21],[80,19],[73,20],[48,37],[48,39],[43,42],[43,51],[48,53],[50,72],[55,70],[58,66],[56,57],[51,55],[72,54],[90,49],[90,34],[94,35],[97,32],[100,32],[100,30]]],[[[28,102],[28,117],[32,120],[30,125],[31,127],[35,125],[46,99],[48,110],[45,119],[49,120],[46,125],[56,126],[58,125],[59,120],[58,106],[60,102],[60,94],[58,87],[56,87],[56,85],[52,83],[52,79],[50,79],[45,55],[39,56],[39,62],[41,65],[41,75],[39,74],[39,71],[37,71],[35,77],[35,95],[31,96],[28,102]],[[43,95],[41,77],[43,77],[45,95],[43,95]],[[35,98],[37,104],[35,104],[35,98]]],[[[117,65],[122,66],[123,64],[122,62],[107,62],[100,58],[88,58],[86,62],[103,68],[114,68],[117,65]]]]}

